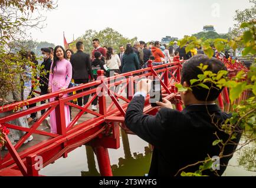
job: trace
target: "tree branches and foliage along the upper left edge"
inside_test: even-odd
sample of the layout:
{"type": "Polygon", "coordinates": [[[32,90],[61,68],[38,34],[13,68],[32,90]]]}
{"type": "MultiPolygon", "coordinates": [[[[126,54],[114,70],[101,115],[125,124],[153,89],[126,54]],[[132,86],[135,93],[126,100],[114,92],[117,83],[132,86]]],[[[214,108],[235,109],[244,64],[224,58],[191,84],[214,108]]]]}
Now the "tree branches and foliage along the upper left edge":
{"type": "MultiPolygon", "coordinates": [[[[31,61],[25,59],[21,53],[26,47],[35,47],[32,41],[24,42],[22,39],[29,36],[28,28],[40,27],[42,9],[54,8],[53,0],[2,0],[0,1],[0,99],[5,97],[15,88],[21,88],[22,82],[15,82],[15,76],[24,78],[26,66],[34,66],[31,61]],[[37,11],[37,16],[34,12],[37,11]],[[14,46],[17,48],[14,51],[14,46]]],[[[37,75],[38,69],[32,69],[32,79],[37,75]]],[[[34,80],[37,83],[37,80],[34,80]]]]}

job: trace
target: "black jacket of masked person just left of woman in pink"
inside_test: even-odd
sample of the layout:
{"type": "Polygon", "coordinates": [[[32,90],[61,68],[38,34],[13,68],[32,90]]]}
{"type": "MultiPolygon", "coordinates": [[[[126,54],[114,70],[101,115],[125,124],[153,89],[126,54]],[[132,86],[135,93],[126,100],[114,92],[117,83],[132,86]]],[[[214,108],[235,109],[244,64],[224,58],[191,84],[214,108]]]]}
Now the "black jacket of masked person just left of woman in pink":
{"type": "Polygon", "coordinates": [[[47,92],[48,90],[48,82],[49,82],[49,76],[50,76],[50,69],[51,69],[51,58],[44,59],[44,62],[42,62],[41,66],[44,65],[44,69],[42,69],[42,72],[46,72],[46,75],[40,76],[40,89],[42,92],[47,92]]]}

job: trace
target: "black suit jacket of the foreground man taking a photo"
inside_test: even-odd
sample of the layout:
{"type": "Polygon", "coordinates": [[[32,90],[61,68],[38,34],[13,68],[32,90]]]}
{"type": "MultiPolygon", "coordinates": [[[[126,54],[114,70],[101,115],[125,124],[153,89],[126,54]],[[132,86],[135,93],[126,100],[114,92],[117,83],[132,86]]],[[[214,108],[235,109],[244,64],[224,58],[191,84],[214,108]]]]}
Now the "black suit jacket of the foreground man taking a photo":
{"type": "MultiPolygon", "coordinates": [[[[206,105],[189,105],[182,112],[173,109],[163,108],[156,116],[143,114],[145,99],[143,96],[135,96],[130,102],[125,123],[126,126],[149,142],[154,147],[149,176],[175,176],[179,169],[205,160],[208,155],[218,156],[218,145],[212,146],[217,135],[224,142],[228,135],[219,132],[211,117],[206,111],[206,105]]],[[[223,122],[231,117],[230,114],[221,112],[217,105],[207,105],[209,113],[214,114],[214,122],[223,122]]],[[[241,134],[237,139],[239,142],[241,134]]],[[[234,152],[237,145],[227,145],[224,155],[234,152]]],[[[222,158],[220,164],[228,164],[232,156],[222,158]]],[[[221,166],[219,175],[224,173],[226,166],[221,166]]],[[[185,172],[196,172],[199,165],[189,167],[185,172]]],[[[214,173],[204,171],[205,174],[214,173]]]]}

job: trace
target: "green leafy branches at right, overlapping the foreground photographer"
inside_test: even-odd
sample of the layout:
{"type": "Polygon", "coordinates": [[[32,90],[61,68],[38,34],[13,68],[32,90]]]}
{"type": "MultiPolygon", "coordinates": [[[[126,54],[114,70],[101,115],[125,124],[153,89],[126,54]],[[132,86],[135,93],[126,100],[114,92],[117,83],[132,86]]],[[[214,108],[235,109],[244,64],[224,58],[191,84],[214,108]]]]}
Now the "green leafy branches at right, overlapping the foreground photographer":
{"type": "MultiPolygon", "coordinates": [[[[244,29],[244,32],[235,40],[228,41],[225,39],[214,39],[212,42],[214,42],[215,47],[216,49],[218,49],[218,51],[224,49],[225,45],[227,44],[229,46],[232,46],[232,48],[236,49],[238,46],[237,43],[242,43],[245,47],[242,55],[254,56],[254,62],[252,63],[252,66],[247,73],[244,72],[244,70],[241,70],[237,73],[236,76],[234,76],[234,78],[228,79],[227,71],[221,70],[220,72],[218,72],[218,74],[212,73],[211,71],[206,70],[207,66],[203,66],[203,64],[201,64],[201,66],[199,66],[198,68],[201,69],[202,74],[198,75],[198,79],[190,80],[191,86],[189,86],[188,88],[184,88],[180,84],[176,85],[180,92],[188,89],[192,90],[194,87],[201,87],[205,89],[211,89],[212,87],[217,87],[221,89],[223,87],[227,87],[229,88],[229,98],[231,99],[232,104],[234,104],[235,100],[241,97],[242,93],[245,92],[245,90],[251,92],[251,97],[249,99],[246,99],[241,103],[234,104],[232,106],[232,117],[230,119],[227,119],[225,123],[222,123],[221,125],[220,130],[229,135],[228,140],[226,142],[223,142],[223,140],[220,140],[218,135],[216,135],[216,140],[214,140],[214,142],[212,143],[212,145],[218,145],[220,147],[220,158],[227,157],[227,155],[224,155],[225,146],[227,146],[229,142],[232,142],[232,140],[236,138],[238,131],[248,130],[251,132],[250,136],[247,137],[247,140],[245,142],[247,144],[255,142],[256,136],[256,21],[254,20],[251,22],[242,23],[240,28],[244,29]]],[[[184,46],[186,42],[189,42],[189,45],[186,46],[187,52],[198,45],[202,45],[205,54],[208,55],[209,58],[212,57],[213,51],[211,46],[209,45],[209,41],[202,42],[201,39],[196,39],[195,36],[186,36],[184,39],[182,39],[182,41],[180,41],[180,45],[184,46]]],[[[239,149],[241,149],[241,147],[239,149]]],[[[256,151],[254,149],[254,151],[251,153],[255,152],[256,151]]],[[[230,155],[232,154],[233,153],[231,153],[230,155]]],[[[186,173],[184,171],[186,167],[183,167],[182,169],[180,169],[180,172],[182,172],[182,176],[202,176],[204,174],[204,170],[211,169],[212,167],[213,162],[211,157],[212,156],[207,156],[204,161],[189,165],[193,166],[201,163],[201,167],[196,172],[186,173]]],[[[215,172],[216,174],[218,174],[217,171],[215,172]]]]}

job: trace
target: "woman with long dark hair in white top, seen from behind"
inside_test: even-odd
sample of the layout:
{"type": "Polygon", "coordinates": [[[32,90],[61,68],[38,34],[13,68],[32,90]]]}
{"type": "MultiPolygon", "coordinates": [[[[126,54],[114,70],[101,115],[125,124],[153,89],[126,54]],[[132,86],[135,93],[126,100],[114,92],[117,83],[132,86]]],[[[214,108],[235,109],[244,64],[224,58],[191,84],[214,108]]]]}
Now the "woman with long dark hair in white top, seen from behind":
{"type": "Polygon", "coordinates": [[[107,48],[106,65],[110,71],[120,74],[119,67],[121,66],[121,60],[117,54],[114,54],[113,48],[107,48]]]}

